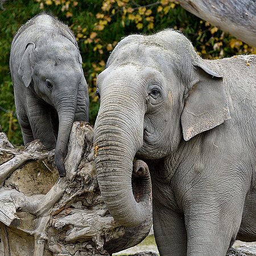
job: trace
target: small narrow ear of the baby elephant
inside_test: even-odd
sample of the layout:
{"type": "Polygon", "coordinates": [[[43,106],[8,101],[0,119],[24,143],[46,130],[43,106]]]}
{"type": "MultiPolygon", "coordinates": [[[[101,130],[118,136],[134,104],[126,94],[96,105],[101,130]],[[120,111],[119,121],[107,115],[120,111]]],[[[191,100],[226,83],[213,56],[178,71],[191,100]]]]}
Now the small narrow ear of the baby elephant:
{"type": "Polygon", "coordinates": [[[26,46],[25,52],[22,56],[22,60],[20,61],[20,64],[19,64],[18,74],[26,87],[30,85],[30,82],[32,80],[32,68],[31,68],[31,62],[30,62],[30,55],[34,51],[34,49],[35,49],[35,44],[28,43],[26,46]]]}

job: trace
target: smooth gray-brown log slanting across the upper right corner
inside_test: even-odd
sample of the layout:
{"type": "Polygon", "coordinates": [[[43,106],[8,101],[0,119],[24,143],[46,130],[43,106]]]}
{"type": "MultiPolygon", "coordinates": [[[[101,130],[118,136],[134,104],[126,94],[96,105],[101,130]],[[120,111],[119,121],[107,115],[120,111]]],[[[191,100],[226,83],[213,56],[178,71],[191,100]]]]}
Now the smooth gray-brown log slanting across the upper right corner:
{"type": "Polygon", "coordinates": [[[178,0],[190,13],[256,46],[255,0],[178,0]]]}

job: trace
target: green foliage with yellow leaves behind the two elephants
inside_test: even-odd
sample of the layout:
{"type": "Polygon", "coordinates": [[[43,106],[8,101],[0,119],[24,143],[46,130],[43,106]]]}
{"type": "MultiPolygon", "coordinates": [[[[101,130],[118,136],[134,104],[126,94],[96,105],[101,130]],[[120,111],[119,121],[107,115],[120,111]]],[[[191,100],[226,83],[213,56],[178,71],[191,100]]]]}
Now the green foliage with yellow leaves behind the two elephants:
{"type": "Polygon", "coordinates": [[[4,2],[3,7],[5,10],[0,10],[0,106],[7,113],[0,110],[0,123],[13,143],[21,143],[22,137],[14,116],[10,44],[18,28],[42,11],[68,24],[77,38],[88,82],[91,123],[98,112],[97,75],[104,70],[110,52],[124,36],[151,34],[172,27],[183,31],[199,55],[206,59],[255,53],[254,48],[210,26],[172,0],[14,0],[4,2]]]}

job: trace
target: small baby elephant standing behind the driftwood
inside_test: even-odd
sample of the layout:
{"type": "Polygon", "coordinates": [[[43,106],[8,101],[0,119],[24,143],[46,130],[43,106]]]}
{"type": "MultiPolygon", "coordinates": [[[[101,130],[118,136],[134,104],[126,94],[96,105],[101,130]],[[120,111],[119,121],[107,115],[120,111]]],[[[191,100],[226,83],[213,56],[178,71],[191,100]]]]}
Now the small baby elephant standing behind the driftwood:
{"type": "Polygon", "coordinates": [[[47,150],[56,147],[61,177],[73,121],[88,121],[88,88],[81,65],[72,31],[48,14],[28,20],[11,44],[11,77],[24,144],[40,139],[47,150]]]}

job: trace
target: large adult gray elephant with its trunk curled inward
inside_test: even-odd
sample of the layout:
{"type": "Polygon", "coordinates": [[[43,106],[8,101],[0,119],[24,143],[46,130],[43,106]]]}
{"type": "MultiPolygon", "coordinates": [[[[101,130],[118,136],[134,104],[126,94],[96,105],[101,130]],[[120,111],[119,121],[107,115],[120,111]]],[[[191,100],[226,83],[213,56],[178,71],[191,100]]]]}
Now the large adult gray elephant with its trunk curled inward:
{"type": "Polygon", "coordinates": [[[256,240],[255,74],[256,56],[203,60],[165,30],[127,36],[98,76],[102,196],[117,221],[139,225],[150,196],[134,200],[134,156],[147,163],[160,255],[221,256],[256,240]]]}

